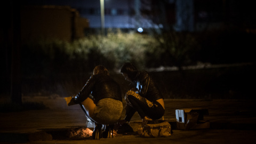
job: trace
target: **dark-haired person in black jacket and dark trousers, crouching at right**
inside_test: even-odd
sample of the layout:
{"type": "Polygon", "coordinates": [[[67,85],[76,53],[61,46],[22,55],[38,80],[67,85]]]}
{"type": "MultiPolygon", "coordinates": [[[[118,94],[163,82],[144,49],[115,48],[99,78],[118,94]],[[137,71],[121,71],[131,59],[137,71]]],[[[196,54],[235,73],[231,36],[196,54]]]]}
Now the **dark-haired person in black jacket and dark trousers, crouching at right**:
{"type": "MultiPolygon", "coordinates": [[[[133,85],[132,90],[126,92],[126,113],[124,122],[130,122],[137,111],[142,121],[159,119],[164,115],[164,100],[161,92],[147,71],[138,71],[132,63],[125,63],[121,73],[133,85]]],[[[122,123],[122,122],[121,122],[122,123]]]]}

